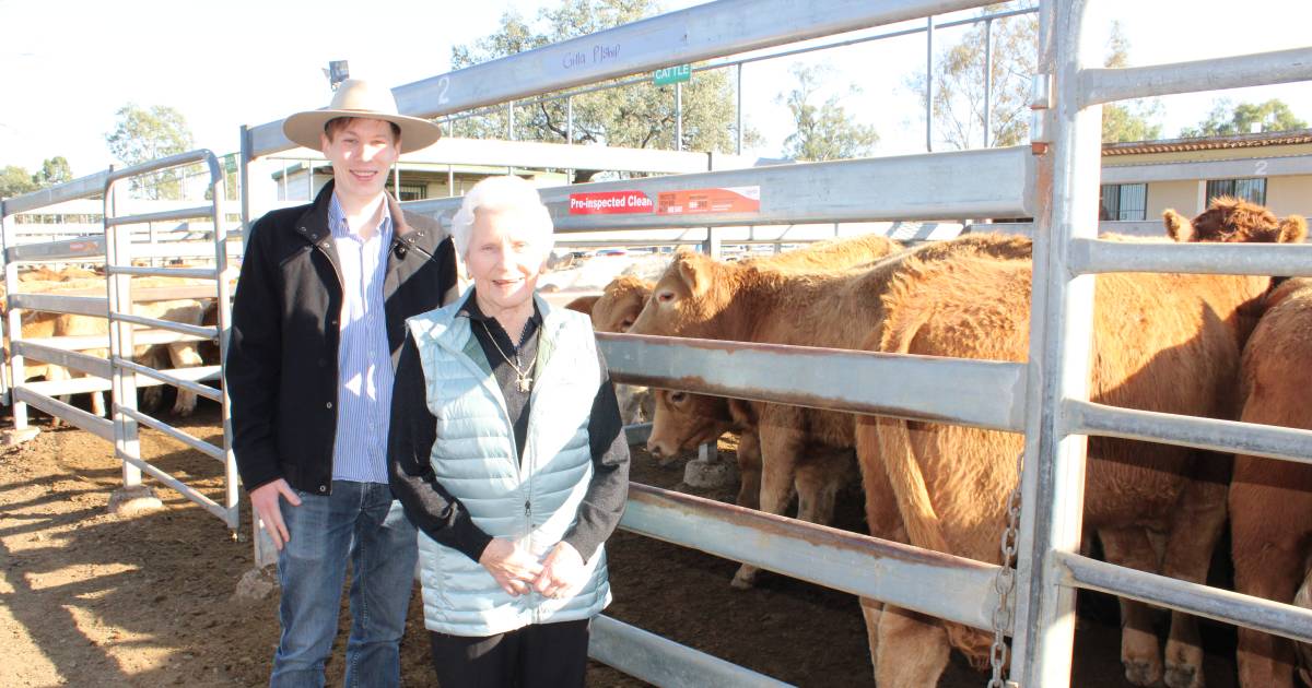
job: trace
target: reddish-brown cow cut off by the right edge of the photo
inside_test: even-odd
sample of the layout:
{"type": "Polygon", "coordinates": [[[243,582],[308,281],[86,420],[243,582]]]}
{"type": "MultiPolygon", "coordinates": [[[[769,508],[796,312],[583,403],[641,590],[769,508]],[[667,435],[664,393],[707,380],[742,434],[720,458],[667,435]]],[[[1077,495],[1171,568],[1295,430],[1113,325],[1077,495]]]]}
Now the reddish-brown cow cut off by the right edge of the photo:
{"type": "MultiPolygon", "coordinates": [[[[1281,284],[1266,307],[1244,349],[1240,419],[1312,430],[1307,408],[1312,389],[1312,279],[1281,284]]],[[[1236,590],[1295,602],[1312,554],[1312,467],[1236,456],[1229,510],[1236,590]]],[[[1240,628],[1237,659],[1241,685],[1294,685],[1294,643],[1286,638],[1240,628]]],[[[1303,680],[1308,683],[1308,676],[1303,680]]]]}

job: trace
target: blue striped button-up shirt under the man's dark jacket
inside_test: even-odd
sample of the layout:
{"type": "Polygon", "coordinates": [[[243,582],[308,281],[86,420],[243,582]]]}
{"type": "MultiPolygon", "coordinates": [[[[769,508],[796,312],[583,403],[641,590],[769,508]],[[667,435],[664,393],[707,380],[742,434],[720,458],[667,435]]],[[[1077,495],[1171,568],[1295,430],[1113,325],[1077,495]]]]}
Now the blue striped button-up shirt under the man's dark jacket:
{"type": "Polygon", "coordinates": [[[392,218],[383,206],[378,231],[365,241],[352,232],[337,194],[333,194],[328,228],[337,246],[342,282],[332,480],[386,484],[395,371],[383,316],[383,278],[392,242],[392,218]]]}

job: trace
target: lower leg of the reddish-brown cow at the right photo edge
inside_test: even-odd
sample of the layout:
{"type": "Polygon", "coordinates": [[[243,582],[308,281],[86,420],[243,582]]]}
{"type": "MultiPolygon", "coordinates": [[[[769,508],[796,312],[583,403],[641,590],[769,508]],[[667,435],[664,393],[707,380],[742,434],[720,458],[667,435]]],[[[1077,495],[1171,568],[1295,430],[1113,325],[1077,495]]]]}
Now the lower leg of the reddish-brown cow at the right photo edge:
{"type": "MultiPolygon", "coordinates": [[[[1241,459],[1265,461],[1265,459],[1241,459]]],[[[1240,468],[1242,470],[1242,468],[1240,468]]],[[[1296,484],[1290,481],[1288,484],[1296,484]]],[[[1229,493],[1231,553],[1235,590],[1245,595],[1288,603],[1304,575],[1300,541],[1305,526],[1290,508],[1287,490],[1242,481],[1236,472],[1229,493]],[[1286,494],[1282,494],[1286,493],[1286,494]],[[1277,515],[1277,508],[1282,514],[1277,515]]],[[[1288,640],[1240,626],[1239,681],[1244,688],[1294,685],[1294,649],[1288,640]]]]}

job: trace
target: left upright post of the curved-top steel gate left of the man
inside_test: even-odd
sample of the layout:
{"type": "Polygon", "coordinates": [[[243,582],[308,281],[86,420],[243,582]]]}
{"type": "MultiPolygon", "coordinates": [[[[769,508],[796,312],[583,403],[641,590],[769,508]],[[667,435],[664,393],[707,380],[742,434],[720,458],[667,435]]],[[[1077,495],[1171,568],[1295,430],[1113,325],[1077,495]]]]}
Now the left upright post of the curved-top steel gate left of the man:
{"type": "MultiPolygon", "coordinates": [[[[117,216],[118,182],[110,181],[105,187],[105,267],[131,265],[133,232],[131,225],[110,225],[108,220],[117,216]]],[[[123,409],[136,409],[136,373],[114,363],[115,358],[133,358],[133,325],[114,318],[115,313],[129,313],[133,308],[131,275],[108,274],[105,288],[109,304],[109,364],[110,364],[110,417],[114,422],[114,456],[123,463],[123,487],[142,484],[142,469],[125,457],[142,457],[140,442],[136,436],[136,421],[123,413],[123,409]]]]}

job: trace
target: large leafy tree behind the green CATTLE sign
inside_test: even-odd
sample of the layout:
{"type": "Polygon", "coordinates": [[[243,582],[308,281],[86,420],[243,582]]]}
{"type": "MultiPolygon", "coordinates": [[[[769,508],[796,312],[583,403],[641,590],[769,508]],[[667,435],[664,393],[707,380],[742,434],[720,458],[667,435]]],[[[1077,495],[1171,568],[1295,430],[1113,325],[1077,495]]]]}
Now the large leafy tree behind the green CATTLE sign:
{"type": "MultiPolygon", "coordinates": [[[[655,0],[568,0],[555,9],[542,9],[534,21],[516,12],[501,17],[492,35],[451,48],[451,68],[459,69],[492,59],[514,55],[568,38],[586,35],[660,12],[655,0]]],[[[590,55],[588,55],[590,58],[590,55]]],[[[597,85],[613,84],[615,81],[597,85]]],[[[674,86],[631,84],[573,96],[573,127],[568,126],[564,98],[514,106],[514,138],[520,140],[597,143],[630,148],[674,148],[674,86]]],[[[724,71],[702,71],[682,85],[684,149],[735,149],[733,89],[724,71]]],[[[455,136],[504,139],[505,106],[475,117],[457,119],[455,136]]],[[[745,132],[744,144],[760,136],[745,132]]],[[[594,172],[581,170],[576,181],[594,172]]]]}

